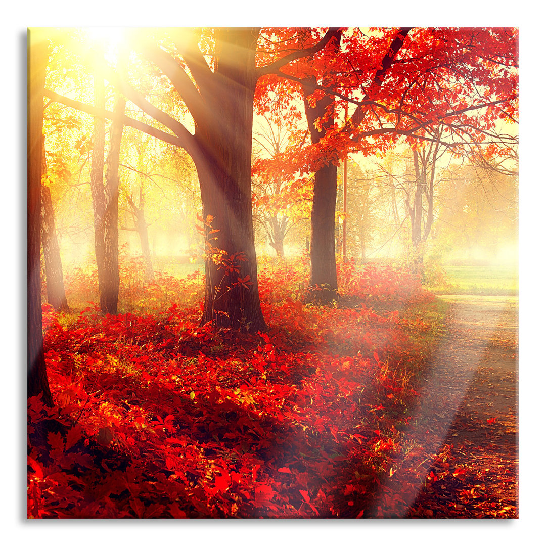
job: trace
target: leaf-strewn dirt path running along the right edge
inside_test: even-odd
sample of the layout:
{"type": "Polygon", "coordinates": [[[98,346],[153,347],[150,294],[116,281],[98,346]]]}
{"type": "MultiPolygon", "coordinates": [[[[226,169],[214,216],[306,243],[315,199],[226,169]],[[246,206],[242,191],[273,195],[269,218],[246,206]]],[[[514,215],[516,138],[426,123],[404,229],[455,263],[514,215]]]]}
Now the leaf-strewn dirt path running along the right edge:
{"type": "Polygon", "coordinates": [[[518,299],[443,298],[448,333],[376,515],[517,518],[518,299]]]}

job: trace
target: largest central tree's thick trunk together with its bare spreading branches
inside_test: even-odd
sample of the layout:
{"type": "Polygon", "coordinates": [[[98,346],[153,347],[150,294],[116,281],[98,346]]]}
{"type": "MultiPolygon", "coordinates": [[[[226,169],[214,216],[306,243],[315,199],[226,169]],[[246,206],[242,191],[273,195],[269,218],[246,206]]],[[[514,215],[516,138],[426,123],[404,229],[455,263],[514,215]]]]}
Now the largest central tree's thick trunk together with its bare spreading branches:
{"type": "MultiPolygon", "coordinates": [[[[123,76],[108,69],[106,72],[124,96],[170,132],[128,117],[122,121],[182,147],[197,168],[205,222],[210,217],[209,223],[219,228],[218,232],[211,233],[205,226],[209,236],[213,236],[209,240],[210,249],[218,248],[223,256],[223,260],[218,260],[218,252],[209,252],[207,257],[207,290],[201,324],[212,321],[217,327],[266,330],[258,295],[252,224],[251,151],[256,83],[261,76],[277,73],[279,68],[298,58],[314,55],[328,44],[335,32],[328,31],[312,47],[290,51],[260,68],[256,67],[259,28],[218,28],[213,33],[215,51],[211,69],[199,49],[198,36],[190,35],[186,29],[173,32],[176,49],[192,73],[192,79],[173,55],[147,39],[146,32],[129,37],[132,46],[171,80],[193,116],[194,134],[180,121],[153,106],[123,76]]],[[[104,109],[52,92],[48,92],[48,96],[91,115],[120,120],[118,115],[104,109]]]]}

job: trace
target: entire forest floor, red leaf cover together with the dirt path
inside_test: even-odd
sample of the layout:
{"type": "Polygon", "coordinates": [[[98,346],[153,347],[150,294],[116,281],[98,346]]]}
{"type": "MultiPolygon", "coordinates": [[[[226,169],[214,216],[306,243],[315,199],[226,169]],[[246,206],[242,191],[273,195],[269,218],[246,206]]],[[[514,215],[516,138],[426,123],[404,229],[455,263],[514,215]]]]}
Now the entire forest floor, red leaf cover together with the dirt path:
{"type": "Polygon", "coordinates": [[[518,298],[347,264],[354,305],[305,306],[302,270],[263,272],[268,333],[198,327],[194,275],[44,305],[28,517],[517,518],[518,298]]]}

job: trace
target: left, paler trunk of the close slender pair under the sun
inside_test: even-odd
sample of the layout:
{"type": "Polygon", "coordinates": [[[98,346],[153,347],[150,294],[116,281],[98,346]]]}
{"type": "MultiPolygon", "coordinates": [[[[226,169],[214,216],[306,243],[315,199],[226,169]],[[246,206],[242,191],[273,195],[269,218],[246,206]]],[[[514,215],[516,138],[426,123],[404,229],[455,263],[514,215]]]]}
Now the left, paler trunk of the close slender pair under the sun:
{"type": "MultiPolygon", "coordinates": [[[[104,108],[104,80],[96,75],[93,85],[95,106],[104,108]]],[[[104,197],[104,119],[98,117],[93,120],[91,200],[93,202],[95,258],[100,297],[104,288],[104,211],[106,210],[106,200],[104,197]]]]}

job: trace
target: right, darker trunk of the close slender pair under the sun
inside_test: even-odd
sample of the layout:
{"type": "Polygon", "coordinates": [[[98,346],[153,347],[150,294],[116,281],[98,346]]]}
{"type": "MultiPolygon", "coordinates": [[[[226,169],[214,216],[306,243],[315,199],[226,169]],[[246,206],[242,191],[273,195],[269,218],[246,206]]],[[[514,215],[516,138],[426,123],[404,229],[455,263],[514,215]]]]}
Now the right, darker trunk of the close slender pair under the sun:
{"type": "MultiPolygon", "coordinates": [[[[116,99],[114,112],[123,114],[125,100],[116,99]]],[[[117,314],[120,292],[120,266],[118,262],[118,198],[120,147],[123,123],[114,121],[110,128],[110,150],[106,159],[106,209],[104,211],[104,286],[100,293],[100,309],[104,313],[117,314]]]]}

